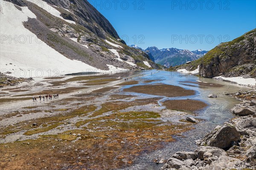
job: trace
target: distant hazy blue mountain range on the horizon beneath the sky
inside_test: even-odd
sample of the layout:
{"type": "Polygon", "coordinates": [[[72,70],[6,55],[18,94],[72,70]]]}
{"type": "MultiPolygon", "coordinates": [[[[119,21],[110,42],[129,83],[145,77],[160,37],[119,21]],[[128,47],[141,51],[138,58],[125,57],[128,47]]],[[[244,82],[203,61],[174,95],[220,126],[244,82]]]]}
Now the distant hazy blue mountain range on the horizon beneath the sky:
{"type": "MultiPolygon", "coordinates": [[[[139,48],[138,46],[131,46],[133,48],[139,48]]],[[[154,57],[154,61],[160,65],[164,65],[169,68],[170,66],[176,66],[184,64],[188,61],[194,61],[204,56],[207,51],[196,50],[180,50],[177,48],[163,48],[158,49],[157,47],[148,47],[144,50],[148,55],[154,57]]]]}

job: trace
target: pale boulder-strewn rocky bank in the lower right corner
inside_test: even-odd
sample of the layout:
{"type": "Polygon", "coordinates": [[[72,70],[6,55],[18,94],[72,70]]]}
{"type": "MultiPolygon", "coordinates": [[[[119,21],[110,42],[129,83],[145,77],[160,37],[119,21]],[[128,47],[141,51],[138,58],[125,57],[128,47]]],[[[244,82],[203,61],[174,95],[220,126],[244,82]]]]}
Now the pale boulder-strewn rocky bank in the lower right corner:
{"type": "Polygon", "coordinates": [[[194,152],[175,153],[161,170],[256,170],[255,93],[234,94],[243,99],[230,110],[238,117],[195,141],[198,147],[194,152]]]}

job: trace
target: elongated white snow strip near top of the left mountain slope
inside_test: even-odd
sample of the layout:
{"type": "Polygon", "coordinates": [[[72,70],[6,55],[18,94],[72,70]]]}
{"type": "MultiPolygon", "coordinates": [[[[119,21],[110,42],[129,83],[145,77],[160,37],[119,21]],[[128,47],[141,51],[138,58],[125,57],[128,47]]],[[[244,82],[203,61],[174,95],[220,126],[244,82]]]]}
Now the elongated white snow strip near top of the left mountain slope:
{"type": "Polygon", "coordinates": [[[61,17],[61,13],[57,9],[50,6],[47,2],[44,2],[42,0],[28,0],[28,1],[31,3],[35,3],[35,5],[39,6],[40,8],[43,8],[45,11],[49,12],[50,14],[52,14],[55,17],[60,18],[61,20],[64,20],[71,24],[76,24],[76,22],[74,22],[74,21],[65,20],[63,17],[61,17]]]}

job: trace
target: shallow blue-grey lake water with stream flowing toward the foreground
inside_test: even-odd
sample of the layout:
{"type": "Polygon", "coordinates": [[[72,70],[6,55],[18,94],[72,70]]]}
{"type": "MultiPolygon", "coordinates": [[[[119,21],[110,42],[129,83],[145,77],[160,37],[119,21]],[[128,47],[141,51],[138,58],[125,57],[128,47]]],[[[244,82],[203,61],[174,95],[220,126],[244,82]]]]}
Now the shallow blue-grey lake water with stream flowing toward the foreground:
{"type": "MultiPolygon", "coordinates": [[[[135,74],[137,77],[133,77],[133,80],[138,80],[138,85],[144,85],[145,80],[156,80],[150,84],[163,83],[168,85],[177,85],[185,89],[190,89],[196,91],[193,96],[183,96],[183,97],[164,97],[161,101],[167,99],[195,99],[201,100],[209,104],[209,107],[205,110],[197,112],[196,118],[203,119],[198,124],[195,124],[195,129],[183,133],[183,136],[173,136],[177,141],[171,142],[165,145],[163,149],[156,150],[152,153],[143,153],[138,156],[136,161],[131,167],[126,167],[119,170],[157,170],[163,166],[163,164],[155,164],[153,161],[155,159],[165,159],[167,160],[177,151],[193,151],[196,149],[195,140],[201,139],[209,131],[213,130],[217,125],[222,125],[227,119],[233,117],[233,114],[229,111],[234,105],[238,104],[239,101],[233,97],[225,95],[225,93],[234,93],[239,90],[248,91],[249,88],[238,86],[224,81],[219,81],[215,79],[207,79],[202,77],[196,77],[193,75],[181,74],[178,72],[169,71],[144,71],[135,74]],[[152,73],[152,74],[151,74],[152,73]],[[182,85],[183,82],[208,82],[214,84],[221,84],[222,87],[201,87],[198,84],[188,83],[189,85],[194,85],[195,87],[182,85]],[[225,92],[225,93],[224,93],[225,92]],[[216,94],[218,98],[212,99],[208,98],[209,94],[216,94]]],[[[133,85],[127,85],[122,88],[129,88],[133,85]]],[[[122,90],[122,89],[121,89],[122,90]]],[[[124,94],[124,93],[122,93],[124,94]]],[[[133,94],[139,97],[152,97],[154,95],[147,94],[136,94],[136,93],[125,93],[133,94]]],[[[164,92],[163,92],[164,95],[164,92]]],[[[161,103],[159,101],[159,103],[161,103]]]]}

